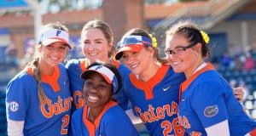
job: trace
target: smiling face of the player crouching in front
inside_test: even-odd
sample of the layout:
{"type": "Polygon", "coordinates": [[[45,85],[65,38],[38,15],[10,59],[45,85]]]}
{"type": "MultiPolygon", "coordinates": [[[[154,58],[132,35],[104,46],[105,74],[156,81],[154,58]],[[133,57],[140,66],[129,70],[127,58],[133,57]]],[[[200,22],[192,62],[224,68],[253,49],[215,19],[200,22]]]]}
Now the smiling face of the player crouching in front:
{"type": "Polygon", "coordinates": [[[91,109],[102,111],[112,95],[112,85],[106,82],[100,74],[93,72],[86,77],[83,96],[85,104],[91,109]]]}

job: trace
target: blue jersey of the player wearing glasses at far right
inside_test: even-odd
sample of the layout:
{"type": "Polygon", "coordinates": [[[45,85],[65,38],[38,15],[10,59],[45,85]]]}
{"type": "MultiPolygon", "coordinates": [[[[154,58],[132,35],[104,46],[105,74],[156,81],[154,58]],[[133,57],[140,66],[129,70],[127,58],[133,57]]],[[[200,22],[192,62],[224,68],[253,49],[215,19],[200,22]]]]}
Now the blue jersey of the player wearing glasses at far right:
{"type": "Polygon", "coordinates": [[[205,128],[229,121],[230,135],[241,136],[256,127],[235,98],[232,88],[211,64],[196,71],[181,86],[179,119],[189,135],[207,135],[205,128]]]}

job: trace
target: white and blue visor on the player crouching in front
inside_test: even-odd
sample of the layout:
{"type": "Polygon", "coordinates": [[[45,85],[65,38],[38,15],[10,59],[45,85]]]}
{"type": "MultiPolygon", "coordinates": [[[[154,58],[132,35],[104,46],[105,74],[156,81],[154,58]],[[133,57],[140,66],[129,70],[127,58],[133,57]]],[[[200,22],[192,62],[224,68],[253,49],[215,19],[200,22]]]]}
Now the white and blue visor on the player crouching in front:
{"type": "Polygon", "coordinates": [[[119,89],[118,79],[108,67],[104,65],[93,65],[81,74],[81,78],[86,79],[91,73],[98,73],[102,75],[106,82],[113,85],[113,94],[117,93],[119,89]]]}

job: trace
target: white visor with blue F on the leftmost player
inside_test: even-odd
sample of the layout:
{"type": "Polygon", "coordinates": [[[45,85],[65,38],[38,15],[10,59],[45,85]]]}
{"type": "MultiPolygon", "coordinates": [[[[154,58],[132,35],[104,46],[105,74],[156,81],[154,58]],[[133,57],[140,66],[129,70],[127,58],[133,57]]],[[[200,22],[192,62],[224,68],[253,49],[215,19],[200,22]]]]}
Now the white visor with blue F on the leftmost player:
{"type": "Polygon", "coordinates": [[[44,29],[40,32],[39,42],[42,42],[43,45],[47,46],[53,42],[63,42],[72,49],[73,46],[68,43],[68,33],[67,31],[62,31],[60,29],[44,29]]]}

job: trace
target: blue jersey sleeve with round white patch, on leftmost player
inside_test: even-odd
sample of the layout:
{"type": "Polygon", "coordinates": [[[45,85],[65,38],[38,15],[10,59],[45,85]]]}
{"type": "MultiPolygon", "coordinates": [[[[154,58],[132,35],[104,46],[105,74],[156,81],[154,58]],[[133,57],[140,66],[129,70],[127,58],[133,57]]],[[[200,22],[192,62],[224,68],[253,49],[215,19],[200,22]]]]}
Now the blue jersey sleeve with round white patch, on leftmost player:
{"type": "Polygon", "coordinates": [[[25,120],[26,109],[29,105],[29,94],[27,94],[28,88],[26,88],[26,84],[28,83],[30,82],[24,82],[20,79],[15,79],[9,82],[6,89],[7,119],[11,119],[14,121],[25,120]]]}

